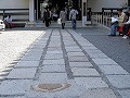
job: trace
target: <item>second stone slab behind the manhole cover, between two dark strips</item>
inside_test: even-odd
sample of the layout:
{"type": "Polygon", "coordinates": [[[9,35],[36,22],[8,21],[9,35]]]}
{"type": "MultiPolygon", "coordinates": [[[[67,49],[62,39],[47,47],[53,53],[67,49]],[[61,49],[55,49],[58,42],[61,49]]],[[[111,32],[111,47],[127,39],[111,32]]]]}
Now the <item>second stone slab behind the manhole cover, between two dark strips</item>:
{"type": "Polygon", "coordinates": [[[42,66],[43,73],[49,72],[49,73],[61,73],[61,72],[66,72],[64,65],[44,65],[42,66]],[[52,69],[53,68],[53,69],[52,69]]]}

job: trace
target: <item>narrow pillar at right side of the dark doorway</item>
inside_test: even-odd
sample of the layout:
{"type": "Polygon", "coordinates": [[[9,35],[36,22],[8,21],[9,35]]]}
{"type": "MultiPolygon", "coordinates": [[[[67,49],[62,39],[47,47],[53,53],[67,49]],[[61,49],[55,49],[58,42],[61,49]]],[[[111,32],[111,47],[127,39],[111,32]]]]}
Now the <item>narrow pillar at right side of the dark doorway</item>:
{"type": "Polygon", "coordinates": [[[82,26],[86,26],[87,22],[87,0],[82,0],[82,26]]]}

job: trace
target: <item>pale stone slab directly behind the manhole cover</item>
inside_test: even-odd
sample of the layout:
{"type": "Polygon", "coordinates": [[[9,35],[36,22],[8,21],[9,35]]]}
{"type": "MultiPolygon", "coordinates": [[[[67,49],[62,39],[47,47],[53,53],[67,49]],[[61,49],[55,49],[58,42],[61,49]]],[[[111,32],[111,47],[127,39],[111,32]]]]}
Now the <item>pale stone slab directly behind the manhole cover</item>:
{"type": "Polygon", "coordinates": [[[39,82],[42,83],[66,83],[66,73],[41,73],[39,76],[39,82]]]}

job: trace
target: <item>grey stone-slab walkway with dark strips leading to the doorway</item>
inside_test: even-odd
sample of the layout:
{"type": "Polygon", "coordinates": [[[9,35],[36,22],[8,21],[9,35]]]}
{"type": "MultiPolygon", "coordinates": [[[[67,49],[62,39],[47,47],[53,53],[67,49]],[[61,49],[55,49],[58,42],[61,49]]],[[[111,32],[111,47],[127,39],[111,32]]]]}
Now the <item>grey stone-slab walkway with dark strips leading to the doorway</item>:
{"type": "Polygon", "coordinates": [[[1,98],[129,98],[130,74],[73,29],[49,28],[0,85],[1,98]],[[44,93],[38,84],[69,84],[44,93]]]}

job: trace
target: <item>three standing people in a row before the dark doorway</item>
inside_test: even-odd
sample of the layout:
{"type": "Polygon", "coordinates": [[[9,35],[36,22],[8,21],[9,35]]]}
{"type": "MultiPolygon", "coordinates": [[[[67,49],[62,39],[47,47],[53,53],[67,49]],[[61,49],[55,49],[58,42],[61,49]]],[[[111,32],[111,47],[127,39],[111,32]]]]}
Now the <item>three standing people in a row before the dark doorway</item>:
{"type": "MultiPolygon", "coordinates": [[[[74,8],[72,8],[70,12],[69,12],[69,20],[72,20],[72,25],[73,28],[76,29],[76,24],[77,24],[77,15],[78,15],[78,11],[75,10],[74,8]]],[[[65,11],[65,8],[63,8],[60,11],[60,16],[57,16],[61,20],[61,24],[62,24],[62,29],[65,28],[65,23],[67,20],[67,13],[65,11]]],[[[43,22],[46,23],[46,27],[48,28],[49,25],[51,24],[51,11],[49,9],[46,9],[46,11],[43,12],[43,22]]]]}

